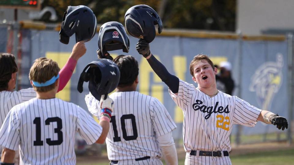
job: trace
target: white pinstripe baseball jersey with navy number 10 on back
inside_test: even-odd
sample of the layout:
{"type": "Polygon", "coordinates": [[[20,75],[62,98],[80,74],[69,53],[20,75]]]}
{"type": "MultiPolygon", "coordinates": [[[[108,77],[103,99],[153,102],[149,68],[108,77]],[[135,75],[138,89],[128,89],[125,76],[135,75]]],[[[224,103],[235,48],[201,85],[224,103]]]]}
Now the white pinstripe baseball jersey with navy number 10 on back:
{"type": "MultiPolygon", "coordinates": [[[[115,92],[109,97],[114,101],[106,138],[109,160],[119,160],[119,164],[143,164],[135,159],[145,156],[160,158],[156,137],[176,128],[164,105],[137,91],[115,92]]],[[[92,94],[86,95],[85,101],[89,111],[100,118],[99,101],[92,94]]],[[[158,159],[154,164],[162,163],[158,159]]]]}

